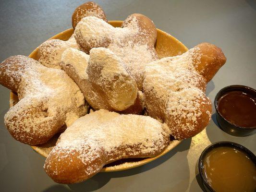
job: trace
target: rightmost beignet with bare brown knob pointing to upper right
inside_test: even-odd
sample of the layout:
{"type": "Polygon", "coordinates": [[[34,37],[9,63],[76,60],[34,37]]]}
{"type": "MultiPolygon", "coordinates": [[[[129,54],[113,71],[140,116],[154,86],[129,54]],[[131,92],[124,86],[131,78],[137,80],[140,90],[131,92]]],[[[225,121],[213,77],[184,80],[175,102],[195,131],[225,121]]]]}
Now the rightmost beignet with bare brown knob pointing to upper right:
{"type": "Polygon", "coordinates": [[[211,117],[207,82],[225,62],[220,48],[201,43],[183,55],[148,63],[143,83],[147,114],[165,122],[176,139],[201,132],[211,117]]]}

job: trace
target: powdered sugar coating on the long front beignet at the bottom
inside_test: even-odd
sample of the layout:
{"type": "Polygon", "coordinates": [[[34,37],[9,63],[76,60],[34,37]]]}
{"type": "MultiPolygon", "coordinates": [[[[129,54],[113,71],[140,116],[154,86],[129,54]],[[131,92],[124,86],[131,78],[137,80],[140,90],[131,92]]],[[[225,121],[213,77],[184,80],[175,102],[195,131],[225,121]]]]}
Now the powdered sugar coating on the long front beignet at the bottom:
{"type": "MultiPolygon", "coordinates": [[[[103,156],[106,157],[104,164],[129,156],[155,156],[168,145],[164,126],[150,117],[120,115],[100,109],[79,118],[68,127],[49,156],[55,154],[57,159],[65,158],[75,152],[85,165],[90,165],[98,157],[104,159],[103,156]],[[57,155],[63,153],[65,156],[57,155]]],[[[48,159],[46,162],[50,166],[48,159]]],[[[95,171],[89,166],[85,168],[88,175],[95,171]]]]}

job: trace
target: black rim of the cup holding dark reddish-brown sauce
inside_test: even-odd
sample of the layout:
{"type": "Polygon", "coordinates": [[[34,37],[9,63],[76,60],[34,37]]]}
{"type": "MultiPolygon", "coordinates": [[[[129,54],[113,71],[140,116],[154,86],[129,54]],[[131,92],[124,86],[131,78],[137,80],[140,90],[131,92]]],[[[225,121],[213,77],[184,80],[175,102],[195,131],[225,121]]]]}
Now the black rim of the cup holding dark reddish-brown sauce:
{"type": "Polygon", "coordinates": [[[221,115],[221,113],[219,112],[219,109],[218,109],[218,101],[219,101],[219,98],[220,98],[221,96],[225,95],[226,93],[232,91],[232,89],[235,89],[235,88],[240,89],[241,91],[242,91],[242,90],[246,90],[246,91],[247,91],[247,90],[250,90],[250,91],[253,91],[253,92],[256,93],[256,90],[255,90],[254,88],[249,87],[249,86],[245,86],[245,85],[233,84],[233,85],[225,86],[225,87],[223,87],[222,89],[219,90],[219,92],[216,94],[216,96],[215,96],[215,98],[214,98],[214,107],[215,107],[215,110],[216,110],[216,112],[218,113],[218,115],[219,115],[223,120],[225,120],[227,123],[231,124],[232,126],[238,128],[238,129],[240,129],[240,130],[247,130],[247,131],[249,131],[249,130],[251,130],[251,131],[252,131],[252,130],[255,130],[256,127],[243,127],[243,126],[236,125],[236,124],[230,122],[229,120],[225,119],[225,118],[221,115]],[[231,90],[228,91],[229,89],[231,89],[231,90]],[[224,92],[224,91],[227,91],[227,92],[222,93],[222,92],[224,92]]]}

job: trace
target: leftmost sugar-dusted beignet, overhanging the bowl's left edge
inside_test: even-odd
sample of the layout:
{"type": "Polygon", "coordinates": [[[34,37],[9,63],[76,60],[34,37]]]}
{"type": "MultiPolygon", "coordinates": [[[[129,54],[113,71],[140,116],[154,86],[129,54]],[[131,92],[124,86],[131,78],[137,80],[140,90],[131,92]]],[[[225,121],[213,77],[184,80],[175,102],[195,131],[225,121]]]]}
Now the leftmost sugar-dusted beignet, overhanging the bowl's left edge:
{"type": "Polygon", "coordinates": [[[0,84],[18,94],[19,102],[5,114],[4,122],[12,137],[25,144],[46,143],[89,108],[65,72],[25,56],[0,64],[0,84]]]}

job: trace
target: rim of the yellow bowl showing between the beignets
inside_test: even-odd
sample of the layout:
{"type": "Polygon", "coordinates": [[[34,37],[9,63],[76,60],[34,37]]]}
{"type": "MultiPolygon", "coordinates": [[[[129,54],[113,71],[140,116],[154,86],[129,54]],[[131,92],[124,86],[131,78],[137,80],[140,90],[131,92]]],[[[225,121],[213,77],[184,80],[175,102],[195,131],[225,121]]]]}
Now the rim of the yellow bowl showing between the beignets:
{"type": "MultiPolygon", "coordinates": [[[[111,24],[111,25],[115,25],[115,26],[120,26],[122,24],[123,21],[109,21],[108,23],[111,24]]],[[[61,34],[65,34],[65,33],[70,33],[71,31],[73,31],[73,28],[69,28],[67,30],[64,30],[52,37],[50,37],[49,39],[59,39],[58,37],[61,36],[61,34]]],[[[188,48],[181,42],[179,41],[177,38],[175,38],[174,36],[171,36],[170,34],[160,30],[157,28],[157,32],[160,33],[160,34],[165,34],[167,36],[169,36],[172,40],[176,41],[185,51],[188,50],[188,48]]],[[[72,32],[73,33],[73,32],[72,32]]],[[[48,40],[49,40],[48,39],[48,40]]],[[[40,45],[39,45],[40,46],[40,45]]],[[[39,47],[38,46],[38,47],[39,47]]],[[[32,57],[32,55],[36,54],[37,50],[38,50],[38,47],[35,48],[30,54],[28,57],[32,57]]],[[[13,98],[14,98],[14,93],[11,91],[10,92],[10,107],[12,107],[12,101],[13,101],[13,98]]],[[[167,146],[167,148],[161,153],[159,154],[158,156],[155,156],[155,157],[148,157],[148,158],[145,158],[141,161],[138,161],[138,162],[141,162],[141,163],[134,163],[132,166],[130,167],[123,167],[123,168],[115,168],[115,166],[111,166],[111,167],[103,167],[100,172],[113,172],[113,171],[122,171],[122,170],[126,170],[126,169],[130,169],[130,168],[136,168],[136,167],[139,167],[139,166],[142,166],[142,165],[145,165],[146,163],[149,163],[157,158],[159,158],[160,156],[163,156],[165,155],[166,153],[168,153],[169,151],[171,151],[173,148],[175,148],[178,144],[180,144],[183,140],[174,140],[175,142],[170,142],[170,144],[167,146]]],[[[30,145],[30,147],[36,151],[38,154],[40,154],[41,156],[45,156],[39,149],[37,146],[32,146],[30,145]]],[[[122,165],[122,164],[121,164],[122,165]]]]}

